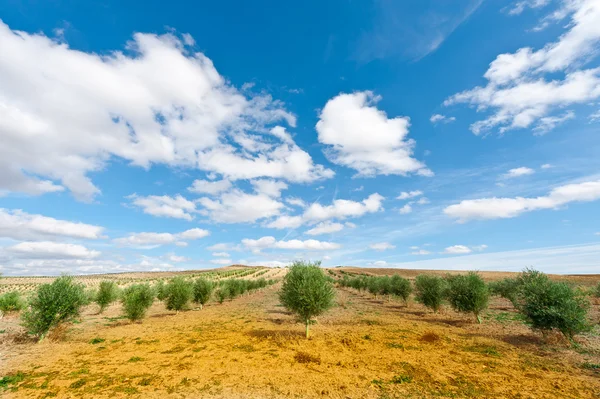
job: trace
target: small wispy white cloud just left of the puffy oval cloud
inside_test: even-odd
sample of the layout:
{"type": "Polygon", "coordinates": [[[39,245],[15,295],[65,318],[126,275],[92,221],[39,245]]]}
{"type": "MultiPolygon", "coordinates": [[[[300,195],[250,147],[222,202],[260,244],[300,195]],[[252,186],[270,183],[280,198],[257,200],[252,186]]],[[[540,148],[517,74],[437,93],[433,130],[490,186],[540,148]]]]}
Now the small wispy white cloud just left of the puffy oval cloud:
{"type": "Polygon", "coordinates": [[[142,208],[143,212],[148,215],[192,220],[194,219],[192,213],[196,212],[196,204],[179,194],[175,197],[168,195],[140,197],[132,194],[127,198],[131,199],[133,205],[142,208]]]}

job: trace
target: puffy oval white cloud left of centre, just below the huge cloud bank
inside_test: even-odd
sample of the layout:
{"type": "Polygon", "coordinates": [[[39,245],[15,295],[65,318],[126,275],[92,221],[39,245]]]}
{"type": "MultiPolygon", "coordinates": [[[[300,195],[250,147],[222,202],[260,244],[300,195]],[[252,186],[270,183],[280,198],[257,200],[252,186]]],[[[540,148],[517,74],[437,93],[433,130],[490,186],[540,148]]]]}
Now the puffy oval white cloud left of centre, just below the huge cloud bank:
{"type": "Polygon", "coordinates": [[[232,190],[218,199],[200,198],[197,201],[204,210],[199,211],[220,223],[251,223],[279,215],[284,204],[267,194],[248,194],[232,190]]]}

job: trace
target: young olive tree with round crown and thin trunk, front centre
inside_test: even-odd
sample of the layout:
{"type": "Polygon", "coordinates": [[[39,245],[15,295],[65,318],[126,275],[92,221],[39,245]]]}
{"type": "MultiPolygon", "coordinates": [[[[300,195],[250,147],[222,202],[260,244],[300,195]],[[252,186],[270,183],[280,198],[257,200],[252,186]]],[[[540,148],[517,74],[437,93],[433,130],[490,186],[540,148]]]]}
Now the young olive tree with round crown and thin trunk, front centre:
{"type": "Polygon", "coordinates": [[[306,338],[311,320],[331,308],[334,297],[333,283],[323,273],[320,262],[294,262],[279,292],[283,306],[305,323],[306,338]]]}

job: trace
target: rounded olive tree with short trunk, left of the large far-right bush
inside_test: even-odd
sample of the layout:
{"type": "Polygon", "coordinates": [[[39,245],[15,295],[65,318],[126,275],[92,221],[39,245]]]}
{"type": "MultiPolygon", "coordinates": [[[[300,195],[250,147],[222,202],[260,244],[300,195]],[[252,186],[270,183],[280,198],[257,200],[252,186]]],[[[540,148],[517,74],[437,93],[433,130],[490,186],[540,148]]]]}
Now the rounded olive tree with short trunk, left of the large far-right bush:
{"type": "Polygon", "coordinates": [[[479,315],[488,306],[490,292],[483,279],[474,272],[446,277],[446,299],[457,312],[473,313],[478,323],[479,315]]]}

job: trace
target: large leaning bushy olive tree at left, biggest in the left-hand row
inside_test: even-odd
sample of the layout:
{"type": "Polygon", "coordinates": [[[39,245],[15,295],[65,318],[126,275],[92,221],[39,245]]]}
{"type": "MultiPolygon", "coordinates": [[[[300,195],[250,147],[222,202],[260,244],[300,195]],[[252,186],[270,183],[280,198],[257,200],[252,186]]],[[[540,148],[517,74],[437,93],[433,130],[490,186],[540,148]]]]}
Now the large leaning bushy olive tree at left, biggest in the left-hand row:
{"type": "Polygon", "coordinates": [[[23,326],[41,340],[51,328],[78,316],[85,302],[83,285],[73,277],[59,277],[39,286],[21,316],[23,326]]]}

